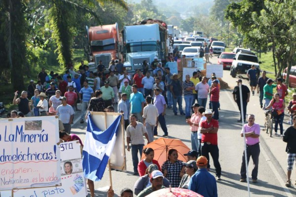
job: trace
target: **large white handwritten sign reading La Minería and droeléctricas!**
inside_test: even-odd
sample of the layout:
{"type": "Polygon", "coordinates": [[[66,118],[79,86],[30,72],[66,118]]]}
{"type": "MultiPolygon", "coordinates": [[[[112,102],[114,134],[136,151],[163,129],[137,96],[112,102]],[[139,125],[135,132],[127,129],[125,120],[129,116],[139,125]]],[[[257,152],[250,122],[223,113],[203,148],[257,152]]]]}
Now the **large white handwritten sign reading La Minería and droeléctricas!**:
{"type": "Polygon", "coordinates": [[[55,116],[0,120],[0,190],[61,184],[55,116]]]}

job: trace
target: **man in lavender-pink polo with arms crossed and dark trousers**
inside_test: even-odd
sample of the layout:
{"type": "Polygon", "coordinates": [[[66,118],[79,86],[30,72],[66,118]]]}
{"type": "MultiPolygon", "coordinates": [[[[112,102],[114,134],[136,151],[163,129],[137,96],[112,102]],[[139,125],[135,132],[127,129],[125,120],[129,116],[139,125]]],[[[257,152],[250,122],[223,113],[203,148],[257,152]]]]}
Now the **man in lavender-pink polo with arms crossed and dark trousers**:
{"type": "MultiPolygon", "coordinates": [[[[258,175],[258,164],[259,164],[259,136],[260,136],[260,125],[255,123],[255,116],[253,114],[248,115],[248,123],[244,125],[245,135],[246,135],[246,146],[247,146],[247,161],[249,163],[250,157],[254,163],[254,168],[252,170],[252,182],[257,183],[258,175]]],[[[241,131],[241,136],[243,137],[243,130],[241,131]]],[[[243,154],[243,161],[241,166],[241,178],[240,182],[246,182],[247,169],[245,162],[245,152],[243,154]]]]}

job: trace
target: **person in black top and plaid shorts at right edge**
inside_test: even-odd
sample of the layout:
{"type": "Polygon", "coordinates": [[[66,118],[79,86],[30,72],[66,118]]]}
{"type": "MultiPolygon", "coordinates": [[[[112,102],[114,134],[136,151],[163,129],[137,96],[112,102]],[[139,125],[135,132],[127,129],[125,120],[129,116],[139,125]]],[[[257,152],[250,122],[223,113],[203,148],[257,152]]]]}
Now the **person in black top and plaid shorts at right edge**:
{"type": "MultiPolygon", "coordinates": [[[[296,159],[296,116],[293,116],[293,125],[289,127],[283,136],[283,141],[287,142],[286,152],[288,153],[287,167],[287,187],[291,187],[291,173],[294,161],[296,159]]],[[[296,181],[295,181],[296,184],[296,181]]]]}

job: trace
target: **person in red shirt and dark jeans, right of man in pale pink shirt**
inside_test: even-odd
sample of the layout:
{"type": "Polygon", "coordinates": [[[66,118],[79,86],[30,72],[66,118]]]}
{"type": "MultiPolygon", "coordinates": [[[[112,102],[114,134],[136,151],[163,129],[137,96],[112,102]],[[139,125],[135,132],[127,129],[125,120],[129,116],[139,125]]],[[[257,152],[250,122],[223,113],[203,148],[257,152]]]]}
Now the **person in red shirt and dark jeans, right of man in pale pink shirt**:
{"type": "Polygon", "coordinates": [[[220,94],[220,89],[218,87],[219,81],[215,79],[212,81],[212,85],[210,88],[210,100],[212,102],[212,109],[214,112],[213,118],[215,120],[219,121],[219,94],[220,94]]]}

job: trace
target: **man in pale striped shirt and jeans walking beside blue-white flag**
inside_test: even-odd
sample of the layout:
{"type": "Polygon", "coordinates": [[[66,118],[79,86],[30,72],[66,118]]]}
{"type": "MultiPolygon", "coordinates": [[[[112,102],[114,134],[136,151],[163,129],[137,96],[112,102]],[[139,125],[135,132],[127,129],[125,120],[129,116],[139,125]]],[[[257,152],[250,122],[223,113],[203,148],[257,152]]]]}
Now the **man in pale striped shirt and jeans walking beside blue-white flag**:
{"type": "Polygon", "coordinates": [[[144,147],[144,137],[145,135],[146,139],[148,140],[148,143],[150,143],[148,134],[146,131],[145,126],[137,122],[137,116],[135,114],[130,115],[130,125],[126,128],[126,144],[127,144],[127,151],[130,151],[130,145],[131,142],[132,146],[132,159],[133,159],[133,166],[134,166],[134,175],[138,175],[138,152],[140,153],[140,158],[142,156],[143,147],[144,147]]]}

